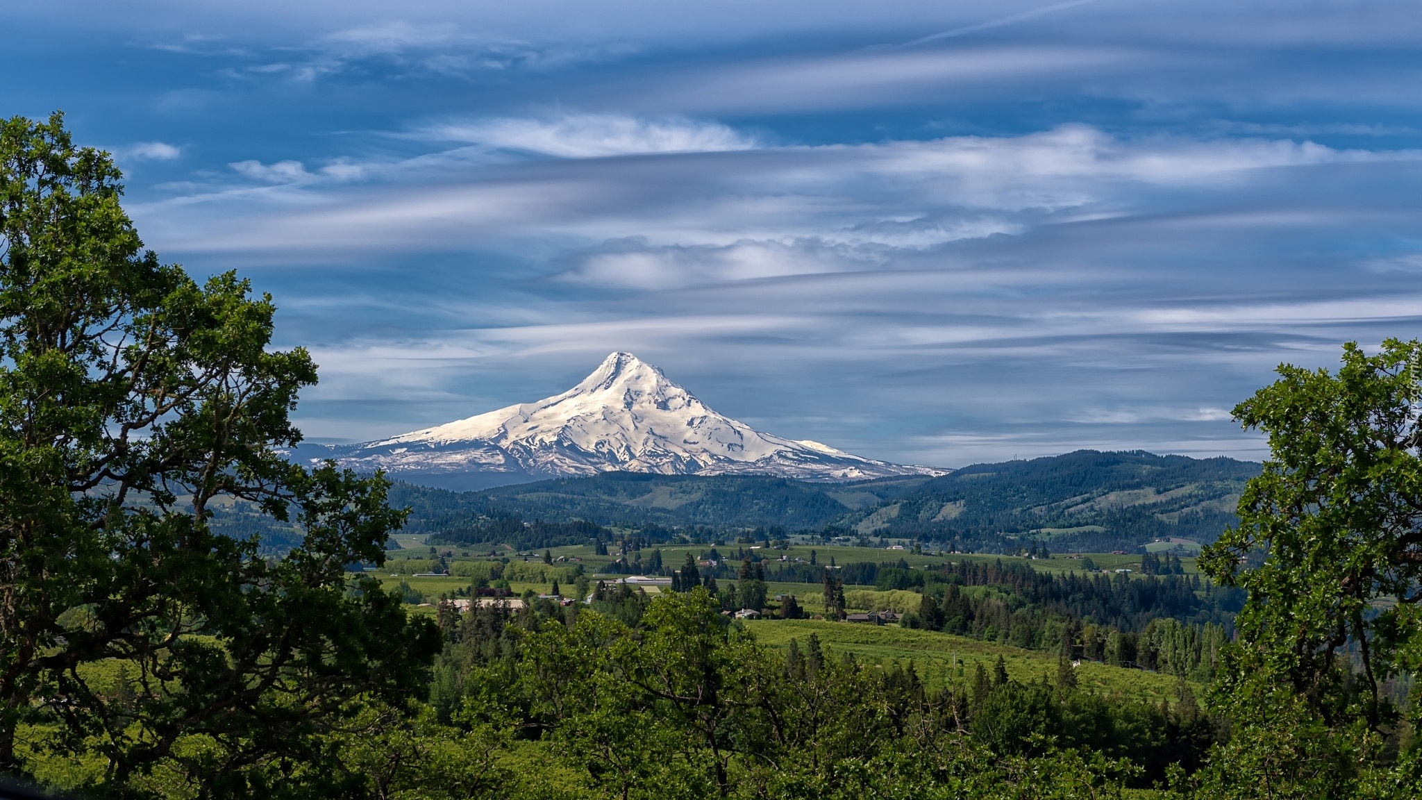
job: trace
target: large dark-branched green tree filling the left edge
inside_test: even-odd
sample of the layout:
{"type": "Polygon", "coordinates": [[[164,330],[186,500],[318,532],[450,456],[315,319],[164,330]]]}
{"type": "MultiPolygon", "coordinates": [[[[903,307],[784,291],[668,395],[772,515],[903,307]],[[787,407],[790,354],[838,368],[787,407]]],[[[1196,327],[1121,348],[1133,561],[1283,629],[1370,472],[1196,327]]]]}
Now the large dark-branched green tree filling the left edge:
{"type": "Polygon", "coordinates": [[[269,349],[270,298],[144,251],[118,179],[58,115],[0,128],[0,770],[255,791],[326,757],[354,698],[417,693],[438,645],[347,585],[400,524],[384,481],[277,451],[316,367],[269,349]],[[212,534],[232,498],[304,544],[212,534]]]}

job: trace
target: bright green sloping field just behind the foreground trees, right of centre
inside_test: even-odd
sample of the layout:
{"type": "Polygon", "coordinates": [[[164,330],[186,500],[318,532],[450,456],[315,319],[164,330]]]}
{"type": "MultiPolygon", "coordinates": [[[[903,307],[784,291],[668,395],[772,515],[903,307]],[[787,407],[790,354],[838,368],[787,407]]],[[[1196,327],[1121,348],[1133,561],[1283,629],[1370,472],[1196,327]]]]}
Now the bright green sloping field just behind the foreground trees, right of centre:
{"type": "MultiPolygon", "coordinates": [[[[798,639],[803,652],[809,635],[815,633],[826,651],[853,653],[860,663],[876,666],[889,666],[894,662],[903,666],[913,663],[919,678],[930,688],[947,686],[954,680],[960,683],[971,680],[977,663],[991,669],[998,655],[1007,662],[1007,673],[1015,680],[1039,680],[1044,675],[1048,680],[1054,680],[1057,676],[1057,656],[1051,653],[933,631],[811,619],[761,619],[747,621],[744,625],[755,633],[758,642],[775,648],[785,648],[791,639],[798,639]],[[954,663],[958,665],[957,669],[954,663]]],[[[1092,662],[1084,662],[1076,668],[1076,680],[1082,688],[1103,695],[1172,702],[1177,686],[1177,679],[1169,675],[1092,662]]]]}

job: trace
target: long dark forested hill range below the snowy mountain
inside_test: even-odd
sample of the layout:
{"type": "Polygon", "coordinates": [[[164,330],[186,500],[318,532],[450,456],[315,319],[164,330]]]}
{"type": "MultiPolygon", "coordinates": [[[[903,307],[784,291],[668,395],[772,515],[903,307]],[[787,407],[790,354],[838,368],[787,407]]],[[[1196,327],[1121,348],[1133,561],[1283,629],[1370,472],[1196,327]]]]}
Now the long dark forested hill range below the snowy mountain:
{"type": "Polygon", "coordinates": [[[937,478],[852,484],[638,473],[478,493],[397,484],[391,502],[411,507],[410,532],[459,531],[464,538],[475,537],[492,520],[518,518],[668,532],[778,527],[967,549],[1038,541],[1052,549],[1101,551],[1130,549],[1162,537],[1213,541],[1233,522],[1239,494],[1258,471],[1256,463],[1231,458],[1082,450],[974,464],[937,478]]]}

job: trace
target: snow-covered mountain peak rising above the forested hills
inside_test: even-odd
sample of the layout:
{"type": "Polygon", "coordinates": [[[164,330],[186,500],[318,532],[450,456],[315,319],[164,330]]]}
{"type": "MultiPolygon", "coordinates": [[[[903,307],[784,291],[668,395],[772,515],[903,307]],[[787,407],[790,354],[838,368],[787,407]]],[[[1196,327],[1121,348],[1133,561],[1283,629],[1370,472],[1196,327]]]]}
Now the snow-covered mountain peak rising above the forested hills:
{"type": "Polygon", "coordinates": [[[303,446],[296,456],[451,488],[619,470],[825,481],[947,473],[759,433],[712,411],[631,353],[611,353],[573,389],[536,403],[380,441],[303,446]]]}

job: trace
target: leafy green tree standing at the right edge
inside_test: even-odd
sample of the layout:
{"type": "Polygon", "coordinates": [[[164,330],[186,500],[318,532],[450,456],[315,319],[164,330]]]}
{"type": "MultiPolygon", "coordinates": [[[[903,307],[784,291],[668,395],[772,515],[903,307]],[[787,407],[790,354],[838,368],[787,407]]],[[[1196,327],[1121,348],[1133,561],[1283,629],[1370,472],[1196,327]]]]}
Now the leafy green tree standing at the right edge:
{"type": "Polygon", "coordinates": [[[1202,558],[1249,591],[1214,698],[1234,720],[1220,796],[1422,794],[1419,357],[1349,343],[1335,374],[1281,366],[1234,409],[1270,458],[1202,558]]]}

